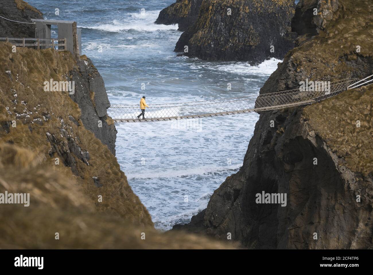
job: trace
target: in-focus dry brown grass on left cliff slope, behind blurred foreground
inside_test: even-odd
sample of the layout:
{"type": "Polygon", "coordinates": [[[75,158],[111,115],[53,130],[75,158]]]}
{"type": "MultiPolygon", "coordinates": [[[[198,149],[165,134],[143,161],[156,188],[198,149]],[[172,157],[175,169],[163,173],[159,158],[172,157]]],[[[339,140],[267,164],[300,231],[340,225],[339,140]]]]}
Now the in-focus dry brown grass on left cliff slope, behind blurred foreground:
{"type": "Polygon", "coordinates": [[[54,158],[60,157],[59,155],[48,155],[51,145],[46,137],[47,132],[59,138],[60,142],[67,142],[60,135],[63,120],[68,134],[82,150],[90,153],[89,166],[74,156],[78,176],[71,175],[71,178],[76,180],[81,190],[95,203],[97,210],[116,214],[136,224],[152,226],[150,214],[132,192],[115,156],[92,132],[69,120],[69,115],[79,120],[81,111],[70,99],[68,92],[43,90],[44,81],[66,80],[69,71],[74,69],[75,61],[70,52],[17,48],[17,53],[12,53],[9,43],[0,44],[0,121],[17,122],[16,128],[10,127],[9,133],[0,131],[0,141],[31,150],[38,156],[37,163],[44,166],[45,171],[58,166],[57,169],[71,173],[70,168],[62,163],[54,165],[54,158]],[[7,70],[11,71],[12,79],[5,73],[7,70]],[[13,100],[17,100],[17,104],[13,100]],[[17,119],[16,113],[28,113],[28,122],[23,124],[23,119],[17,119]],[[48,121],[44,121],[45,114],[50,115],[48,121]],[[34,119],[41,119],[43,125],[29,122],[34,119]],[[92,177],[98,177],[103,186],[96,187],[92,177]],[[97,201],[98,195],[103,196],[103,202],[97,201]]]}

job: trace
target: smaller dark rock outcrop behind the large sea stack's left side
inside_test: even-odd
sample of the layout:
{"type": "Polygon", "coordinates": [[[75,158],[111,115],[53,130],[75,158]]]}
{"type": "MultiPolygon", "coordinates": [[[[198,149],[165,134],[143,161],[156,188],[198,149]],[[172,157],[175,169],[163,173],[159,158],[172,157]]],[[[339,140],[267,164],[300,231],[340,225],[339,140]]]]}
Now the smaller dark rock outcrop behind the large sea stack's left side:
{"type": "Polygon", "coordinates": [[[177,0],[160,11],[156,24],[178,24],[179,31],[186,31],[197,21],[202,0],[177,0]]]}

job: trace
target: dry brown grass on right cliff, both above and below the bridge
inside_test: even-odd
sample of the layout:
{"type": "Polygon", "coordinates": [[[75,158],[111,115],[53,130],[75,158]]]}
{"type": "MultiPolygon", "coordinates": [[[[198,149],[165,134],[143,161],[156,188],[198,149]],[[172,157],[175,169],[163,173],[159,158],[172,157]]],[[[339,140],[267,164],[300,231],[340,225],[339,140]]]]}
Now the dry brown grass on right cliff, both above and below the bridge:
{"type": "MultiPolygon", "coordinates": [[[[365,67],[356,68],[358,62],[348,61],[373,58],[372,8],[372,1],[339,0],[335,20],[329,23],[326,30],[291,51],[298,71],[312,80],[337,80],[354,73],[363,78],[371,74],[368,62],[365,67]],[[356,52],[356,46],[361,46],[361,53],[356,52]],[[345,56],[348,56],[347,61],[345,56]]],[[[327,146],[345,159],[348,168],[364,175],[373,171],[373,151],[370,148],[372,96],[373,86],[369,86],[342,92],[304,108],[311,128],[326,141],[327,146]],[[360,128],[356,127],[357,120],[361,122],[360,128]]]]}

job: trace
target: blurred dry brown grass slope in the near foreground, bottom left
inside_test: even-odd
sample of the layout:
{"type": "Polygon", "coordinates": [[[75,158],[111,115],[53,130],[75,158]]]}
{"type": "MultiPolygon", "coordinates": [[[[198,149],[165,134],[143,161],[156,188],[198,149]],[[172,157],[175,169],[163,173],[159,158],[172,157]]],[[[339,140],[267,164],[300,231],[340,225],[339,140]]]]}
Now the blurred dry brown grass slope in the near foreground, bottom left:
{"type": "Polygon", "coordinates": [[[0,248],[222,249],[234,248],[181,232],[159,233],[110,213],[97,213],[68,169],[38,164],[21,147],[0,143],[0,193],[29,193],[30,205],[0,207],[0,248]],[[55,239],[55,233],[59,239],[55,239]],[[141,239],[145,233],[145,239],[141,239]]]}

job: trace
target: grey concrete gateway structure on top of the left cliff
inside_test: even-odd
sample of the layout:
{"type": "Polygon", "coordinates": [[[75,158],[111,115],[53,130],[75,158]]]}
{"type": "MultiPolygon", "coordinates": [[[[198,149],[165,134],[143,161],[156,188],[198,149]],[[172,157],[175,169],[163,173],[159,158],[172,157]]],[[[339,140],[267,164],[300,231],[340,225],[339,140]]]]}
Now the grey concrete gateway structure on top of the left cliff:
{"type": "MultiPolygon", "coordinates": [[[[66,51],[70,51],[76,57],[81,56],[81,29],[76,28],[75,21],[31,19],[35,22],[36,38],[51,38],[51,25],[57,25],[58,34],[56,38],[66,38],[66,51]]],[[[61,50],[63,46],[59,46],[61,50]]]]}

